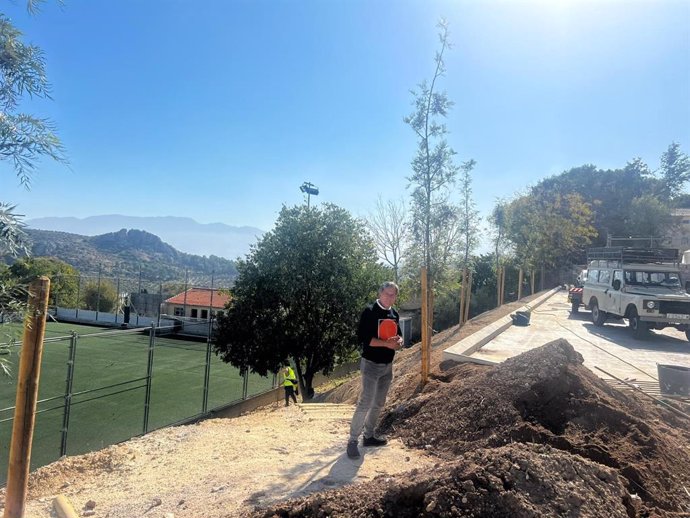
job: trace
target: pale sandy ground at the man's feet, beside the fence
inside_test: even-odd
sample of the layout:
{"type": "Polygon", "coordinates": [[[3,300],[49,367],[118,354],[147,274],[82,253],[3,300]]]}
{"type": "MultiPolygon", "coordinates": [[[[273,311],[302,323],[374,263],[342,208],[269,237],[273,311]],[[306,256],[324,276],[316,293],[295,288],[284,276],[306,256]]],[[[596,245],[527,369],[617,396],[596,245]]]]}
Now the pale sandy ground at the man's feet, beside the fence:
{"type": "Polygon", "coordinates": [[[26,517],[56,516],[58,494],[81,516],[237,516],[255,506],[434,464],[399,439],[363,449],[358,461],[348,459],[352,409],[276,404],[64,458],[32,474],[26,517]]]}

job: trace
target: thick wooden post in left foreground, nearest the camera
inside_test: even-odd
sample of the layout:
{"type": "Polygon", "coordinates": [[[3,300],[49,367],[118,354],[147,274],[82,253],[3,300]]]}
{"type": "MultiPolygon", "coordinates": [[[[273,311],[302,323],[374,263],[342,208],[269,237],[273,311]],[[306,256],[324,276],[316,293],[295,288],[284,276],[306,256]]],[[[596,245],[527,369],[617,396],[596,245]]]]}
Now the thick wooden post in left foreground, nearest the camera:
{"type": "Polygon", "coordinates": [[[29,286],[29,311],[24,319],[17,399],[7,470],[5,518],[24,516],[49,292],[50,279],[45,276],[39,277],[29,286]]]}

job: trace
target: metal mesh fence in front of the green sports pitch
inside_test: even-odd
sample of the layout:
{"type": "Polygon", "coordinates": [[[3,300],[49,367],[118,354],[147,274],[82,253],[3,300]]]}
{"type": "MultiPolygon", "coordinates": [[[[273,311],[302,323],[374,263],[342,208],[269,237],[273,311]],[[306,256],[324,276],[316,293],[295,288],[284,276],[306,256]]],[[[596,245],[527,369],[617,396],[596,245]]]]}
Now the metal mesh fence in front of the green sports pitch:
{"type": "MultiPolygon", "coordinates": [[[[208,336],[209,322],[196,325],[208,336]]],[[[207,416],[276,387],[274,377],[240,376],[213,354],[208,338],[180,336],[179,327],[62,333],[47,332],[44,341],[31,469],[207,416]]],[[[19,345],[5,350],[16,364],[19,345]]],[[[3,378],[0,465],[7,465],[14,416],[8,403],[15,395],[16,379],[3,378]]],[[[4,483],[6,474],[0,475],[4,483]]]]}

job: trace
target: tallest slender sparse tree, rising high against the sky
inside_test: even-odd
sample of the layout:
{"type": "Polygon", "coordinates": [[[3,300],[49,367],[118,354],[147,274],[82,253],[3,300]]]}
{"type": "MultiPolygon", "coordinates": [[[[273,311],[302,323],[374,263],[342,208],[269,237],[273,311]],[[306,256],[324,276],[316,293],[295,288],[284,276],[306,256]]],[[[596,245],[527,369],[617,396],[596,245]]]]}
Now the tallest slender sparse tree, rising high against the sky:
{"type": "Polygon", "coordinates": [[[414,97],[414,111],[405,122],[417,136],[417,154],[412,160],[412,260],[427,267],[431,283],[440,278],[451,264],[457,249],[459,221],[456,207],[450,201],[450,188],[458,176],[453,162],[455,151],[448,145],[448,130],[441,118],[448,115],[453,102],[445,92],[437,91],[437,82],[446,67],[444,53],[450,47],[448,26],[439,22],[440,50],[435,57],[431,82],[423,81],[414,97]],[[420,257],[421,256],[421,257],[420,257]]]}

